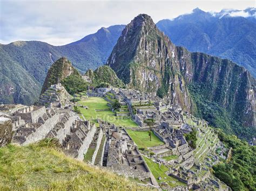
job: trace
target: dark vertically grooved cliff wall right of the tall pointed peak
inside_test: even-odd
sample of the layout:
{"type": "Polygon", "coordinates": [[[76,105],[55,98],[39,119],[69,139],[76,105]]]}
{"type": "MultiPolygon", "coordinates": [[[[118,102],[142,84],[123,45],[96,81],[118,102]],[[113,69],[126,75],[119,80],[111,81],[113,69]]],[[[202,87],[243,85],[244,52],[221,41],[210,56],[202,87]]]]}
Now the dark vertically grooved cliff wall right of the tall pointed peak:
{"type": "Polygon", "coordinates": [[[177,47],[180,71],[187,84],[197,88],[205,100],[215,102],[234,121],[254,127],[255,79],[243,67],[204,53],[190,53],[177,47]]]}

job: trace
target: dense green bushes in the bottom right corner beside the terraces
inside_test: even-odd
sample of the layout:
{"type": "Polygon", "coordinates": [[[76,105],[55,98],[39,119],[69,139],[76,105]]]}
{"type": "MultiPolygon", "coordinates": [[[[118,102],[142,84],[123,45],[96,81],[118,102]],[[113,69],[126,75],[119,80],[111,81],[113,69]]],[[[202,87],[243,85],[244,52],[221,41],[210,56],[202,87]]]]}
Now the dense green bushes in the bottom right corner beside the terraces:
{"type": "Polygon", "coordinates": [[[232,147],[230,161],[213,166],[214,175],[232,190],[255,190],[256,146],[249,146],[234,135],[218,130],[219,139],[227,148],[232,147]]]}

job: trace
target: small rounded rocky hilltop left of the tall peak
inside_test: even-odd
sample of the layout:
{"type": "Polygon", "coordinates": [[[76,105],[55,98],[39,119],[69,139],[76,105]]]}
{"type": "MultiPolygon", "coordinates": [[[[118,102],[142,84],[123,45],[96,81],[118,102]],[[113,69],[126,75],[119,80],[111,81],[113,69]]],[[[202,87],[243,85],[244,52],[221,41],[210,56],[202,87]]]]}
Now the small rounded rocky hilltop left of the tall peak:
{"type": "Polygon", "coordinates": [[[52,84],[60,83],[66,77],[71,74],[78,73],[78,71],[72,66],[71,62],[62,57],[52,64],[48,70],[47,76],[44,80],[41,94],[49,88],[52,84]]]}

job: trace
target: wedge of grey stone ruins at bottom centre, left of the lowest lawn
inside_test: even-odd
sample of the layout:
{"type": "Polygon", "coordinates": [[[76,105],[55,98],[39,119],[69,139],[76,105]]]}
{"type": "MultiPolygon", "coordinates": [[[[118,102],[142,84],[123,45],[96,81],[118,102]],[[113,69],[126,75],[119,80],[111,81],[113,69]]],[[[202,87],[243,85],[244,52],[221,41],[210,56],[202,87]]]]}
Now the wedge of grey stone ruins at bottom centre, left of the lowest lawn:
{"type": "Polygon", "coordinates": [[[126,130],[114,125],[104,126],[107,141],[103,166],[110,168],[117,174],[138,178],[141,181],[158,186],[156,179],[126,130]]]}

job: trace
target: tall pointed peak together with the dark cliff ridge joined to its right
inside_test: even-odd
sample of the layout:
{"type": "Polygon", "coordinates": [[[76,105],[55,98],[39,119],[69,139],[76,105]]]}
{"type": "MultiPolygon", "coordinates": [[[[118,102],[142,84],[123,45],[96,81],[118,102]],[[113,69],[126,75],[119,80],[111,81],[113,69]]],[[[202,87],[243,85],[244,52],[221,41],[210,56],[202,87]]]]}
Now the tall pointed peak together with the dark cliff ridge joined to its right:
{"type": "Polygon", "coordinates": [[[126,26],[106,65],[131,88],[165,97],[226,132],[255,136],[255,79],[248,70],[176,47],[147,15],[126,26]]]}

